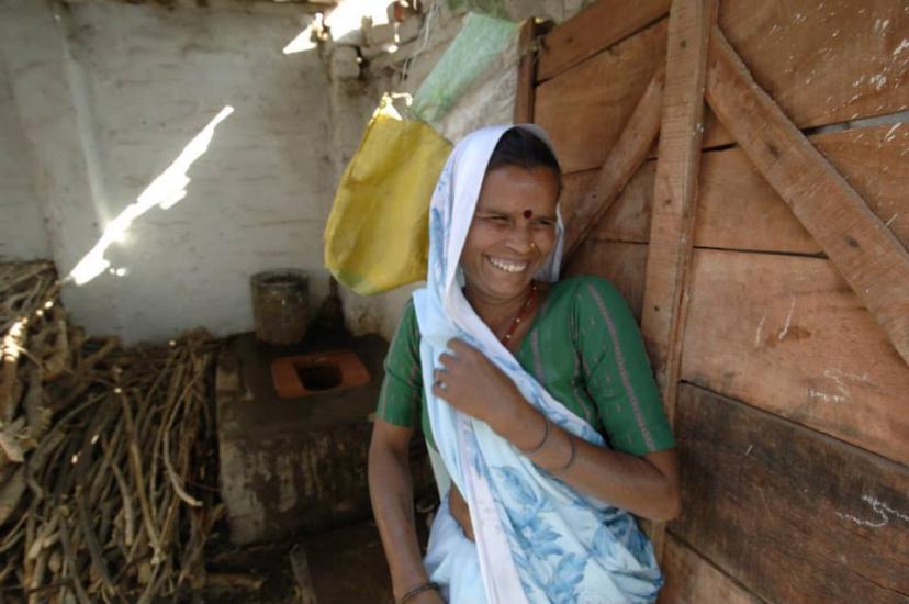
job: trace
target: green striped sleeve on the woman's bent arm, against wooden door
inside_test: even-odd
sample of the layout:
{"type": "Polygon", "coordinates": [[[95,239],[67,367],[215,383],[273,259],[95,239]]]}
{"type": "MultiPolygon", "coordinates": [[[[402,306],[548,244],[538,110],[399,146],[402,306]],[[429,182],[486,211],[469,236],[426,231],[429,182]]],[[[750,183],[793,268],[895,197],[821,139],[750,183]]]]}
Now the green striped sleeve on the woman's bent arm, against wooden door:
{"type": "Polygon", "coordinates": [[[608,281],[580,280],[575,342],[587,391],[614,449],[641,456],[675,446],[635,315],[608,281]]]}

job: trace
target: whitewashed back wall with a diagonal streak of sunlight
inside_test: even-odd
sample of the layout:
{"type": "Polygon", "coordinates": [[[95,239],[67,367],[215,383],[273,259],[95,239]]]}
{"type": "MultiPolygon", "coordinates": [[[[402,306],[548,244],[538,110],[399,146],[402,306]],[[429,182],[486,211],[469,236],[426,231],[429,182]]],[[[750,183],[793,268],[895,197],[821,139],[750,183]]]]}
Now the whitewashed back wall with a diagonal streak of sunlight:
{"type": "Polygon", "coordinates": [[[1,48],[21,71],[13,91],[47,172],[43,203],[61,275],[233,108],[186,170],[186,197],[169,209],[139,200],[147,211],[103,251],[109,270],[66,286],[77,322],[126,342],[195,326],[247,331],[248,278],[278,267],[311,271],[317,305],[336,174],[317,52],[281,52],[300,18],[120,3],[54,15],[26,0],[4,8],[18,23],[3,20],[1,48]]]}

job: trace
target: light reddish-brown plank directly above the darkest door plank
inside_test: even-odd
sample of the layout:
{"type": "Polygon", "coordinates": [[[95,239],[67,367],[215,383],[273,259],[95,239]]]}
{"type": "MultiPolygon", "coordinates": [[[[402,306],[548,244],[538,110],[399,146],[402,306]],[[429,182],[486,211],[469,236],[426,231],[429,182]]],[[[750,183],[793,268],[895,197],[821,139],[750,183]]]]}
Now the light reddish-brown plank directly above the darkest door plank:
{"type": "Polygon", "coordinates": [[[909,465],[909,368],[829,259],[695,248],[691,280],[683,382],[909,465]]]}

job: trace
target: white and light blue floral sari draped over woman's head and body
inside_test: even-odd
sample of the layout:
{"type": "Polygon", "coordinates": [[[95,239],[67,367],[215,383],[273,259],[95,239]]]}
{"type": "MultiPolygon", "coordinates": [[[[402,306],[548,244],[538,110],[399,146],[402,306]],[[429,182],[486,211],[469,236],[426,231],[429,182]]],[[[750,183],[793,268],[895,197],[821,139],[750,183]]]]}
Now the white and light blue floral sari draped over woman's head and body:
{"type": "MultiPolygon", "coordinates": [[[[429,211],[426,287],[414,292],[422,334],[420,370],[439,456],[470,508],[475,544],[447,501],[433,526],[426,567],[450,602],[652,602],[662,577],[650,543],[625,511],[574,489],[534,465],[485,423],[433,395],[433,372],[446,343],[458,337],[505,372],[550,420],[598,446],[604,438],[526,372],[464,298],[461,250],[490,157],[512,126],[476,131],[449,157],[429,211]]],[[[520,124],[551,147],[537,126],[520,124]]],[[[559,277],[563,238],[537,279],[559,277]]]]}

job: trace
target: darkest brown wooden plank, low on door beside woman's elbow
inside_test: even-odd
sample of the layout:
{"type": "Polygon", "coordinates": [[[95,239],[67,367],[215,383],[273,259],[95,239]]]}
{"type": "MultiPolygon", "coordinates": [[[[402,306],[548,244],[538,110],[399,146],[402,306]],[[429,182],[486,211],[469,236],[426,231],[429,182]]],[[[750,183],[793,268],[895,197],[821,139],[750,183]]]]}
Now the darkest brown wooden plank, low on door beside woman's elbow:
{"type": "Polygon", "coordinates": [[[676,420],[673,535],[765,602],[906,602],[906,466],[688,384],[676,420]]]}

